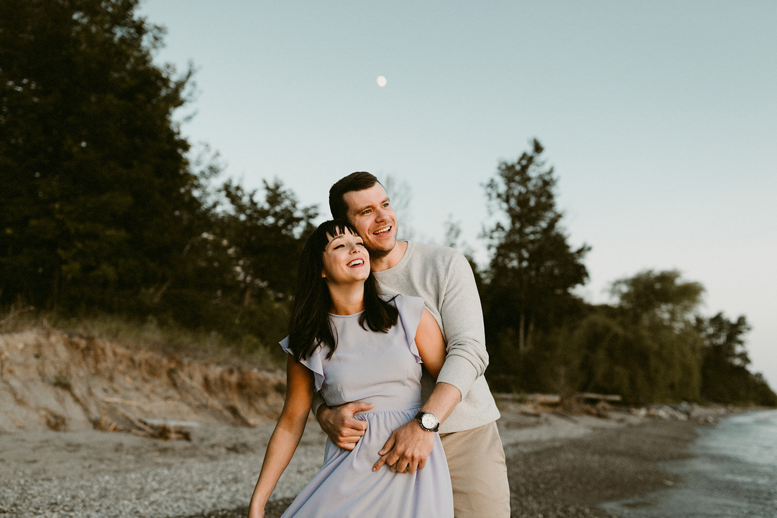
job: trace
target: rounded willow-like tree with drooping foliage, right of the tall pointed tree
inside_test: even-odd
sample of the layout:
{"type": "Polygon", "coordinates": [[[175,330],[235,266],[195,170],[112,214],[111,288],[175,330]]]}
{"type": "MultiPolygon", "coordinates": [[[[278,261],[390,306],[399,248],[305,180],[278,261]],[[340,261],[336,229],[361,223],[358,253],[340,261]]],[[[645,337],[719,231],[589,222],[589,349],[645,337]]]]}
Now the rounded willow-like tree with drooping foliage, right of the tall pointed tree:
{"type": "Polygon", "coordinates": [[[702,291],[676,271],[616,280],[615,311],[600,308],[572,337],[581,355],[580,389],[632,403],[698,400],[702,341],[692,317],[702,291]]]}

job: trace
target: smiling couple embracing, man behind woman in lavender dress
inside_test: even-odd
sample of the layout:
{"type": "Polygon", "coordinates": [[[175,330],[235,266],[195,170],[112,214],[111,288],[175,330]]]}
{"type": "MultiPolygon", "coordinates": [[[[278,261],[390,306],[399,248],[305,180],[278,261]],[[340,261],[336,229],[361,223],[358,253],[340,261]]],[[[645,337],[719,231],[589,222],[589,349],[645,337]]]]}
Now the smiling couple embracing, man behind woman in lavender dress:
{"type": "Polygon", "coordinates": [[[249,518],[264,516],[311,409],[329,436],[324,464],[284,516],[510,516],[469,262],[397,241],[389,196],[368,172],[335,183],[329,208],[334,220],[300,258],[280,344],[286,401],[249,518]]]}

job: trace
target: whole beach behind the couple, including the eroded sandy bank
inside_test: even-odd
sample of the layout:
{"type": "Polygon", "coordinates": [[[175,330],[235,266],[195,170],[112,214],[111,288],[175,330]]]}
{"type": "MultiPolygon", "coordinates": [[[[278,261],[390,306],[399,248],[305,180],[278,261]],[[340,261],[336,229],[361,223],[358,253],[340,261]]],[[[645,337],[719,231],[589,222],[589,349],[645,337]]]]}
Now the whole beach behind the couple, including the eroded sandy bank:
{"type": "MultiPolygon", "coordinates": [[[[82,333],[0,335],[0,516],[246,516],[283,381],[82,333]]],[[[495,398],[512,516],[535,518],[627,514],[598,504],[673,487],[659,463],[687,458],[699,423],[727,412],[495,398]]],[[[268,518],[319,470],[325,440],[308,419],[268,518]]]]}

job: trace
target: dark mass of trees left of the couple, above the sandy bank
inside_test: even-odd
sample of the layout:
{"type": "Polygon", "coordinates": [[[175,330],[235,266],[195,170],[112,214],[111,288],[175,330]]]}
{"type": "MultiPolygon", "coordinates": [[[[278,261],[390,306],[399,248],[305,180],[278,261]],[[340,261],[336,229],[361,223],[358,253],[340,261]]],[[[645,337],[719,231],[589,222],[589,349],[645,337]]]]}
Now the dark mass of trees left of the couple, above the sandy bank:
{"type": "Polygon", "coordinates": [[[192,72],[137,4],[0,2],[0,301],[275,341],[317,210],[188,158],[192,72]]]}

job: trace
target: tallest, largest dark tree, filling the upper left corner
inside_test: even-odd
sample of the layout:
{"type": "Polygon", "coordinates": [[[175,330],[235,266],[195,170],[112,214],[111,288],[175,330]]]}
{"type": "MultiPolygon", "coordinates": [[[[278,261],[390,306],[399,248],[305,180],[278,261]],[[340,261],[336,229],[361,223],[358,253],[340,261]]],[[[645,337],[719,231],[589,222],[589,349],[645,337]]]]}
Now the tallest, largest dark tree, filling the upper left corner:
{"type": "Polygon", "coordinates": [[[0,297],[124,305],[207,228],[172,113],[191,71],[152,61],[138,0],[0,3],[0,297]]]}

